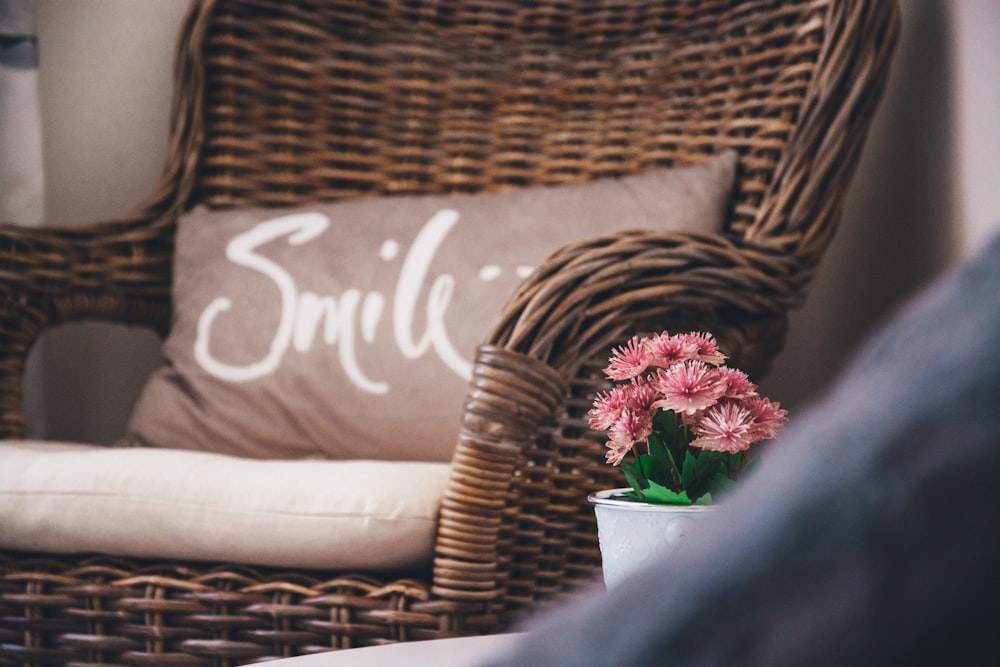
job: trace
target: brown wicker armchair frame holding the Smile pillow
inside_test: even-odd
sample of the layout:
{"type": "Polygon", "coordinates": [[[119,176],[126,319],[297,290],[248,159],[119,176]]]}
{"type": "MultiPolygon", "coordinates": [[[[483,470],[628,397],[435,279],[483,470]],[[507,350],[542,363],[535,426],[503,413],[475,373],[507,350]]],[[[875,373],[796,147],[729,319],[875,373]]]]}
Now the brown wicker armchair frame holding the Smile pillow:
{"type": "Polygon", "coordinates": [[[7,552],[0,663],[228,665],[489,633],[592,582],[586,494],[618,480],[584,413],[609,346],[706,328],[767,371],[834,234],[897,25],[882,0],[196,3],[150,199],[103,224],[0,227],[0,436],[22,437],[43,329],[166,332],[175,224],[195,205],[579,182],[732,147],[731,216],[717,235],[581,240],[513,295],[420,576],[7,552]]]}

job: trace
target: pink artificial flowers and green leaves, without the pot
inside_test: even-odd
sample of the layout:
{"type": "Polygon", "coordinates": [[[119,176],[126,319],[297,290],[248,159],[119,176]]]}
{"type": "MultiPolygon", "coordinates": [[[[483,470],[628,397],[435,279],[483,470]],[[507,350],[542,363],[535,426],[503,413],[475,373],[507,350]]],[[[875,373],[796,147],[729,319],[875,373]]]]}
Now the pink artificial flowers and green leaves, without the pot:
{"type": "Polygon", "coordinates": [[[632,487],[627,499],[710,504],[747,469],[751,447],[780,433],[786,411],[725,360],[703,332],[636,336],[612,351],[604,373],[615,385],[588,416],[608,433],[607,462],[632,487]]]}

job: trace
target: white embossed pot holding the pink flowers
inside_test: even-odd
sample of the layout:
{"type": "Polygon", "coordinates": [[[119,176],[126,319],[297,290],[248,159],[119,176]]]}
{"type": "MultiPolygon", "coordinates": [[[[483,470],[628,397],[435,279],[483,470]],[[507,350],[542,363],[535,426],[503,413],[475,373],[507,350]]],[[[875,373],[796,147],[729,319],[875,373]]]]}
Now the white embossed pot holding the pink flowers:
{"type": "Polygon", "coordinates": [[[604,584],[618,585],[648,563],[666,558],[690,532],[707,505],[677,507],[623,500],[629,488],[607,489],[587,496],[597,515],[604,584]]]}

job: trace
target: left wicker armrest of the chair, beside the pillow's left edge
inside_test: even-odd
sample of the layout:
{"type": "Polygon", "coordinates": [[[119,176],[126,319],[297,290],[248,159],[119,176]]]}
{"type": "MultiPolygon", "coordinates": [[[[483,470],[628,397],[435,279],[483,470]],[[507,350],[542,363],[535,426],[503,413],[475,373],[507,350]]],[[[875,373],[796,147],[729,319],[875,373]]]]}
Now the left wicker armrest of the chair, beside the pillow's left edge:
{"type": "Polygon", "coordinates": [[[80,227],[0,224],[0,437],[22,437],[24,364],[48,327],[169,323],[174,216],[151,209],[80,227]]]}

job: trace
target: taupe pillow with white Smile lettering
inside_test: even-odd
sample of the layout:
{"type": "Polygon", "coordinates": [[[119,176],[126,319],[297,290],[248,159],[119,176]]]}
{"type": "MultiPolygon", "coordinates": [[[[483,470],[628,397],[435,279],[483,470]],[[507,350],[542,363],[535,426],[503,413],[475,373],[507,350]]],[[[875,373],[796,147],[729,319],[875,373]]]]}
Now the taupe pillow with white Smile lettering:
{"type": "Polygon", "coordinates": [[[174,319],[133,445],[447,461],[476,346],[570,241],[716,231],[736,155],[581,185],[391,197],[179,221],[174,319]]]}

